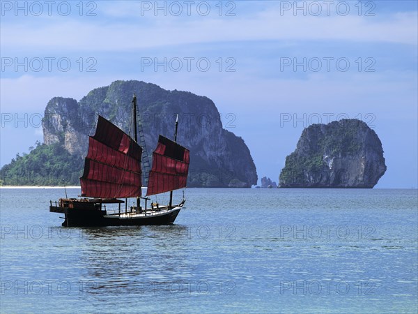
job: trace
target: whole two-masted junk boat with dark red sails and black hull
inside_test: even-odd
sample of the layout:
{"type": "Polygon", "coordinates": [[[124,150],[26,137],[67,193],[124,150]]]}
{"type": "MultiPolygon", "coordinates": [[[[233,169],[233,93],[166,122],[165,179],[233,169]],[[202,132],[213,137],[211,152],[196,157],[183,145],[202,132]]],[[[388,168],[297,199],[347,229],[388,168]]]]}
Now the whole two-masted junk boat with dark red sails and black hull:
{"type": "Polygon", "coordinates": [[[98,116],[95,135],[88,139],[84,173],[80,178],[81,197],[84,198],[50,201],[49,211],[65,215],[64,227],[169,225],[176,220],[186,200],[183,193],[183,200],[172,204],[173,190],[186,187],[189,172],[189,150],[177,143],[178,115],[174,140],[162,135],[158,139],[148,178],[146,196],[170,192],[169,204],[163,206],[141,196],[142,147],[137,140],[135,95],[132,115],[133,139],[104,117],[98,116]],[[128,208],[127,199],[130,197],[136,198],[136,205],[128,208]],[[117,209],[109,209],[116,206],[117,209]]]}

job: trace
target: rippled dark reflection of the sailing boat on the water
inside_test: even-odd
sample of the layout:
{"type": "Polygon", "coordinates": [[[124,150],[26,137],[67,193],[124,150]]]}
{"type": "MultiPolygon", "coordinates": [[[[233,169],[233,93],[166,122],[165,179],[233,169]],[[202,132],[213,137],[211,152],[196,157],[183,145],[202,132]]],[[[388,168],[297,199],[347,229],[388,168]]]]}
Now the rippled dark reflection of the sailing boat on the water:
{"type": "Polygon", "coordinates": [[[79,266],[92,294],[141,294],[151,282],[180,281],[190,268],[186,226],[80,228],[79,266]],[[186,236],[186,237],[185,237],[186,236]]]}

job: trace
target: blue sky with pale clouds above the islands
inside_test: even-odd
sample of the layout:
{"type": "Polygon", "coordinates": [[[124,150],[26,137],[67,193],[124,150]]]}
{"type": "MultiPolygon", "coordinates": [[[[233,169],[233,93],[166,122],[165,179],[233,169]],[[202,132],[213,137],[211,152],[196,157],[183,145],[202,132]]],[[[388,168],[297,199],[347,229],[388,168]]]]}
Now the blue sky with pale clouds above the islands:
{"type": "Polygon", "coordinates": [[[376,188],[418,186],[417,1],[0,1],[0,166],[42,139],[55,96],[115,80],[207,96],[278,181],[302,130],[355,118],[376,188]]]}

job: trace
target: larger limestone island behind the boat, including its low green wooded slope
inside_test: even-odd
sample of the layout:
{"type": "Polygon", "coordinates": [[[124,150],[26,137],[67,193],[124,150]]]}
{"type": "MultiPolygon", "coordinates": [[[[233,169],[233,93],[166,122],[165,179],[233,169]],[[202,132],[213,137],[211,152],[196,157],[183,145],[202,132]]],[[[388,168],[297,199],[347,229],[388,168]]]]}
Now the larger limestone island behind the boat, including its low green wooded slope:
{"type": "Polygon", "coordinates": [[[97,115],[129,132],[132,94],[137,93],[148,157],[158,134],[173,136],[179,114],[179,141],[190,150],[188,187],[250,188],[257,183],[256,166],[241,137],[222,128],[217,107],[207,97],[167,91],[155,84],[116,81],[93,89],[77,102],[49,100],[42,121],[44,144],[1,169],[3,185],[79,185],[88,135],[97,115]]]}

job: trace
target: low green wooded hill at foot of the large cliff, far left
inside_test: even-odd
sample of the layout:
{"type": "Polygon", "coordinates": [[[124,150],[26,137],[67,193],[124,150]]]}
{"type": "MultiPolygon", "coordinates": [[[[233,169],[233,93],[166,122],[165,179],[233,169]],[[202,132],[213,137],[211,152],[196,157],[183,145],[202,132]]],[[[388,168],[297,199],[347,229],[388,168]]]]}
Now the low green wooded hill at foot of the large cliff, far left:
{"type": "Polygon", "coordinates": [[[60,144],[38,144],[29,154],[1,168],[3,186],[78,185],[84,163],[60,144]]]}

